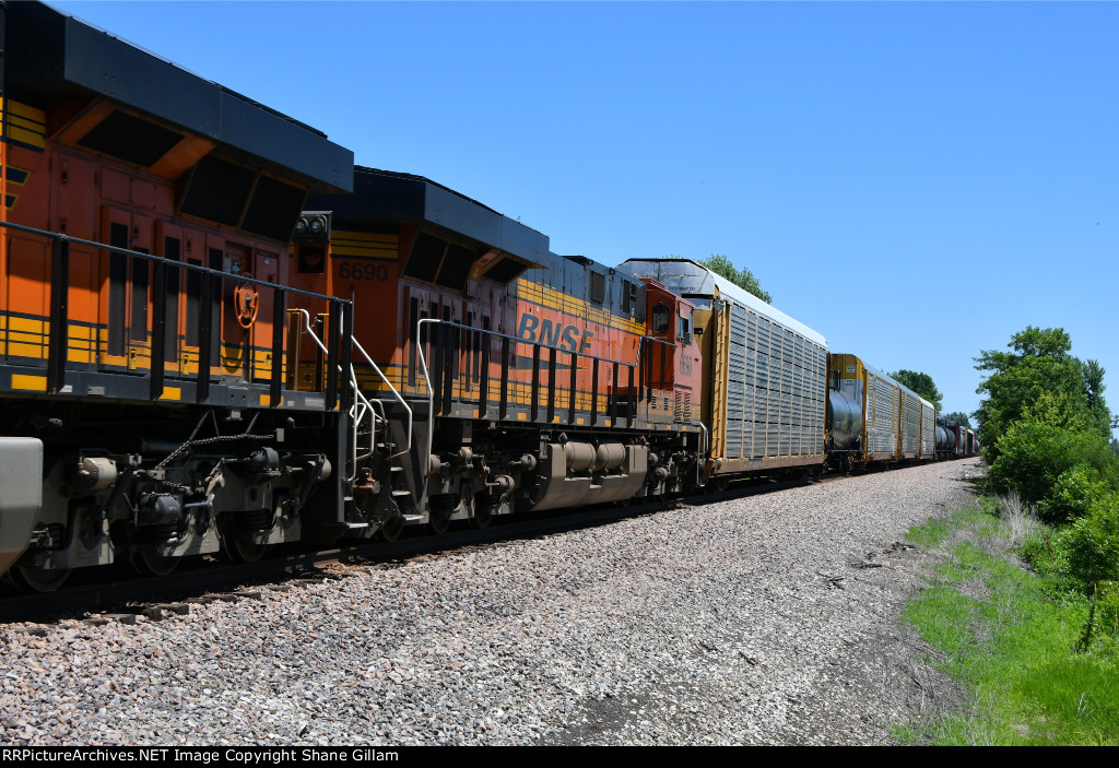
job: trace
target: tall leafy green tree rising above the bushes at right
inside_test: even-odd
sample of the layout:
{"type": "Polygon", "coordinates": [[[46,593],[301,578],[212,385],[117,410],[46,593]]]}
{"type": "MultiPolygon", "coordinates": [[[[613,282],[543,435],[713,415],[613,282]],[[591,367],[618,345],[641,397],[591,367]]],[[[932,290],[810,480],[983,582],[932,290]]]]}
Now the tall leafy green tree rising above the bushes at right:
{"type": "Polygon", "coordinates": [[[1007,352],[984,350],[975,359],[976,369],[986,373],[976,392],[987,397],[974,416],[989,452],[988,462],[998,458],[999,440],[1010,426],[1041,405],[1045,423],[1074,429],[1087,426],[1109,435],[1104,423],[1110,411],[1101,395],[1103,369],[1071,354],[1072,339],[1064,329],[1029,325],[1010,336],[1007,347],[1007,352]]]}

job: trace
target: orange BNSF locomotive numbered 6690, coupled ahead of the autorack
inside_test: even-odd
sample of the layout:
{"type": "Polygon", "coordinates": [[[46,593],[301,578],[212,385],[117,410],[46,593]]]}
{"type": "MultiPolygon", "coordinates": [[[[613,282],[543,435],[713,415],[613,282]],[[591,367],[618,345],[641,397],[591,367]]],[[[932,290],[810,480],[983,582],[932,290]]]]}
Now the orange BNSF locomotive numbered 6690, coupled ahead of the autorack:
{"type": "Polygon", "coordinates": [[[689,302],[421,177],[358,168],[309,205],[292,285],[359,307],[356,378],[389,435],[360,533],[697,484],[689,302]]]}

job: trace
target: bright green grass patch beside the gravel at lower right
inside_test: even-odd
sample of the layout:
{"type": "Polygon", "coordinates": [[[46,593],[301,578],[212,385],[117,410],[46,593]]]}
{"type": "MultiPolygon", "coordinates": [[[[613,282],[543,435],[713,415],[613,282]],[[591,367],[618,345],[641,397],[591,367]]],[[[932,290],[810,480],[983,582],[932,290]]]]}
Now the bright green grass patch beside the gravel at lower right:
{"type": "MultiPolygon", "coordinates": [[[[1119,745],[1119,663],[1079,653],[1089,603],[1053,599],[1007,552],[1006,527],[990,504],[929,521],[910,540],[950,553],[932,586],[902,618],[939,655],[925,661],[958,681],[961,711],[895,727],[903,743],[1119,745]],[[962,535],[963,543],[952,532],[962,535]]],[[[1093,646],[1094,648],[1096,646],[1093,646]]]]}

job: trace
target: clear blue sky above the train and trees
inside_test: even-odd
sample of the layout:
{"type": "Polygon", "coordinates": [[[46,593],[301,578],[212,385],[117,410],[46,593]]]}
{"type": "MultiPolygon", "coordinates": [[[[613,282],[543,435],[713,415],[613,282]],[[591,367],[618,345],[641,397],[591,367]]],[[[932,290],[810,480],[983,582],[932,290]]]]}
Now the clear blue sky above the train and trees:
{"type": "Polygon", "coordinates": [[[1031,324],[1119,408],[1119,4],[53,4],[557,253],[726,254],[947,410],[1031,324]]]}

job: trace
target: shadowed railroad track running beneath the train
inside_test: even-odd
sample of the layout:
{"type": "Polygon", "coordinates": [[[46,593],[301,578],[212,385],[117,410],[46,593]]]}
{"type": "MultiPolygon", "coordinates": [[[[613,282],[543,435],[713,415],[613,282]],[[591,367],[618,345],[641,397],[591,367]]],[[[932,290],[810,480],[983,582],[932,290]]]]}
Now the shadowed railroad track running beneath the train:
{"type": "MultiPolygon", "coordinates": [[[[765,478],[744,481],[725,491],[630,505],[600,505],[572,512],[556,510],[538,514],[495,518],[486,529],[464,524],[441,534],[425,534],[423,529],[406,530],[397,541],[367,542],[333,547],[318,551],[279,551],[254,563],[205,562],[200,567],[181,569],[161,577],[104,575],[90,584],[64,587],[55,592],[11,595],[0,599],[0,623],[18,622],[37,625],[62,619],[94,623],[119,620],[134,623],[138,617],[160,619],[168,615],[189,613],[192,604],[215,600],[260,598],[264,589],[289,589],[293,584],[340,579],[354,568],[377,566],[423,554],[455,551],[470,547],[499,544],[505,541],[538,538],[567,530],[609,524],[611,522],[653,514],[678,506],[707,504],[746,497],[756,493],[830,482],[838,476],[814,481],[765,478]]],[[[36,627],[25,630],[36,632],[36,627]]]]}

